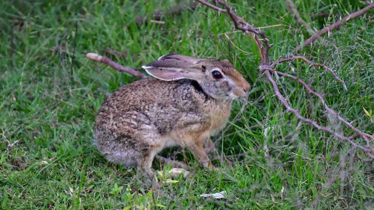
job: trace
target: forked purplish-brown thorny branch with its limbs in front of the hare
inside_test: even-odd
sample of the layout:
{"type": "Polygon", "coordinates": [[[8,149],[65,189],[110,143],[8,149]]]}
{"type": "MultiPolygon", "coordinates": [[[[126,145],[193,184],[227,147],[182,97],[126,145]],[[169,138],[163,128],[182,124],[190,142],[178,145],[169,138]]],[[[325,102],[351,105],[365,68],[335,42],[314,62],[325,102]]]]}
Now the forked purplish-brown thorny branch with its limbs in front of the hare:
{"type": "MultiPolygon", "coordinates": [[[[267,79],[270,81],[270,83],[272,83],[275,95],[277,96],[277,98],[279,99],[279,101],[281,101],[282,104],[286,107],[287,111],[294,113],[295,116],[299,120],[303,121],[304,123],[309,123],[309,124],[311,124],[312,126],[316,127],[319,130],[331,133],[335,137],[337,137],[337,138],[339,138],[341,140],[349,142],[353,147],[361,149],[361,151],[365,152],[368,155],[368,157],[370,157],[372,160],[374,160],[374,147],[371,146],[371,144],[370,144],[371,143],[370,139],[374,140],[374,137],[372,135],[369,135],[369,134],[367,134],[365,132],[362,132],[361,130],[357,129],[352,124],[350,124],[348,121],[344,120],[337,112],[335,112],[334,110],[332,110],[331,108],[329,108],[327,106],[327,104],[326,104],[326,102],[325,102],[325,100],[324,100],[324,98],[322,97],[321,94],[313,91],[303,80],[301,80],[300,78],[295,77],[293,75],[289,75],[289,74],[286,74],[286,73],[279,72],[279,71],[275,70],[276,66],[279,63],[281,63],[281,62],[291,62],[291,61],[293,61],[295,59],[301,59],[301,60],[305,61],[306,63],[308,63],[310,66],[319,66],[319,67],[325,68],[327,71],[329,71],[334,76],[334,78],[336,80],[338,80],[341,83],[343,83],[344,88],[347,89],[344,81],[341,80],[340,78],[338,78],[337,75],[335,74],[335,72],[331,68],[327,67],[324,64],[318,64],[318,63],[314,63],[312,61],[309,61],[304,56],[291,56],[290,58],[285,58],[285,59],[279,58],[275,62],[270,63],[270,59],[269,59],[270,44],[269,44],[269,40],[267,39],[267,37],[266,37],[266,35],[265,35],[265,33],[263,31],[257,30],[251,24],[248,24],[247,22],[245,22],[243,18],[239,18],[233,12],[232,8],[225,1],[223,1],[223,0],[217,0],[217,2],[221,6],[223,6],[225,9],[221,9],[220,7],[217,7],[217,6],[214,6],[212,4],[209,4],[208,2],[206,2],[204,0],[196,0],[196,1],[200,2],[201,4],[203,4],[203,5],[207,6],[207,7],[210,7],[211,9],[217,10],[220,13],[227,13],[228,15],[230,15],[230,18],[234,22],[234,26],[235,26],[236,29],[243,31],[244,33],[251,33],[252,34],[252,37],[255,39],[255,41],[257,43],[257,46],[258,46],[258,48],[260,50],[261,63],[260,63],[260,66],[259,66],[259,70],[261,72],[264,72],[264,74],[266,75],[267,79]],[[258,35],[261,36],[261,39],[260,39],[260,37],[258,35]],[[302,84],[304,86],[304,88],[309,93],[317,96],[320,99],[321,103],[324,105],[325,112],[327,112],[328,114],[331,114],[331,115],[335,116],[339,121],[341,121],[347,127],[351,128],[352,130],[354,130],[357,133],[355,135],[350,136],[350,137],[346,137],[346,136],[344,136],[341,133],[333,131],[329,127],[325,127],[325,126],[319,125],[314,120],[311,120],[311,119],[308,119],[308,118],[305,118],[305,117],[301,116],[299,114],[299,111],[297,111],[296,109],[292,108],[288,104],[287,100],[284,98],[284,96],[282,95],[282,93],[279,91],[278,84],[273,79],[272,74],[281,75],[283,77],[288,77],[288,78],[291,78],[291,79],[297,81],[298,83],[302,84]],[[362,145],[359,145],[359,144],[353,142],[353,140],[355,138],[357,138],[358,136],[360,136],[361,138],[363,138],[365,140],[365,142],[366,142],[365,146],[362,146],[362,145]]],[[[316,32],[314,35],[312,35],[312,37],[310,37],[308,40],[306,40],[304,42],[304,46],[310,44],[312,41],[314,41],[317,38],[321,37],[321,35],[327,33],[328,31],[334,30],[335,28],[337,28],[340,25],[342,25],[345,22],[347,22],[349,19],[352,19],[352,18],[358,17],[360,15],[363,15],[364,13],[366,13],[368,10],[370,10],[372,8],[374,8],[374,3],[371,3],[370,5],[368,5],[367,7],[365,7],[364,9],[361,9],[361,10],[359,10],[357,12],[354,12],[354,13],[350,14],[349,16],[345,17],[344,19],[341,19],[340,21],[337,21],[334,24],[332,24],[332,25],[330,25],[328,27],[325,27],[324,29],[316,32]]]]}

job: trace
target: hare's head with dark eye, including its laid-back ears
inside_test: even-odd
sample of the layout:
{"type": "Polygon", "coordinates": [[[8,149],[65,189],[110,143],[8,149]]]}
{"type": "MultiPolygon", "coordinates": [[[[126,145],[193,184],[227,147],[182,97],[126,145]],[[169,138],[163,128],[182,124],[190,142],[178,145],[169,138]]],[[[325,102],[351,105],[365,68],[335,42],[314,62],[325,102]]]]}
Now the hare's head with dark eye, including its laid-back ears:
{"type": "Polygon", "coordinates": [[[161,56],[142,68],[160,80],[195,80],[207,95],[215,99],[244,97],[249,90],[248,82],[227,60],[171,54],[161,56]]]}

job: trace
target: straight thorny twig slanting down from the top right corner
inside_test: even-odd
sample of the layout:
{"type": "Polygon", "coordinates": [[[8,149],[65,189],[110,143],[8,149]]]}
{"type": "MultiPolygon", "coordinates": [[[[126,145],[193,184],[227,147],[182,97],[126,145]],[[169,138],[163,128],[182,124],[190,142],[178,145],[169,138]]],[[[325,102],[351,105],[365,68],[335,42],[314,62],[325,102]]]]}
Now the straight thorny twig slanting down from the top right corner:
{"type": "Polygon", "coordinates": [[[318,37],[321,37],[322,35],[328,33],[329,31],[334,30],[337,27],[340,27],[342,24],[346,23],[350,19],[357,18],[358,16],[364,15],[368,10],[371,10],[373,8],[374,8],[374,3],[371,3],[368,6],[366,6],[365,8],[363,8],[361,10],[358,10],[356,12],[353,12],[353,13],[349,14],[348,16],[345,16],[343,19],[338,20],[338,21],[334,22],[333,24],[331,24],[331,25],[329,25],[325,28],[322,28],[322,30],[317,31],[314,35],[312,35],[310,38],[305,40],[302,45],[299,44],[296,47],[295,52],[298,52],[301,49],[302,46],[307,46],[307,45],[311,44],[318,37]]]}

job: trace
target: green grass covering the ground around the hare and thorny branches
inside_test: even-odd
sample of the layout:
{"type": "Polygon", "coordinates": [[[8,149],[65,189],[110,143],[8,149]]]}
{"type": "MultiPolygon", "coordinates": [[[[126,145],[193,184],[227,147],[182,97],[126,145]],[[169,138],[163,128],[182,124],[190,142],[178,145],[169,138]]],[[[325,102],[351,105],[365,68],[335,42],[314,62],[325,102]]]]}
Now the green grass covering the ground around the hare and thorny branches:
{"type": "MultiPolygon", "coordinates": [[[[312,13],[346,15],[364,7],[358,0],[297,2],[301,16],[317,29],[336,17],[311,20],[312,13]]],[[[232,30],[227,15],[198,6],[163,16],[165,24],[135,24],[136,15],[174,4],[173,0],[1,1],[0,209],[373,209],[373,163],[360,162],[354,158],[355,153],[365,157],[360,151],[285,112],[257,70],[259,55],[251,37],[229,34],[245,53],[219,35],[232,30]],[[110,55],[105,48],[127,54],[110,55]],[[135,169],[108,163],[92,144],[94,118],[111,92],[136,78],[88,60],[88,52],[129,67],[173,52],[229,59],[251,83],[251,104],[224,134],[219,150],[245,156],[235,159],[232,168],[215,162],[220,172],[198,167],[190,179],[179,178],[178,183],[159,176],[154,190],[135,169]],[[199,197],[223,190],[229,193],[227,199],[199,197]]],[[[265,30],[274,43],[272,59],[291,53],[309,37],[282,0],[231,4],[255,26],[283,24],[265,30]]],[[[374,22],[366,26],[372,15],[370,11],[349,21],[325,35],[325,44],[301,52],[329,64],[347,82],[348,92],[331,74],[302,62],[278,68],[325,93],[331,108],[368,133],[374,131],[363,111],[363,107],[374,110],[374,22]]],[[[353,133],[324,115],[321,103],[300,84],[283,78],[278,84],[303,116],[346,135],[353,133]]],[[[233,116],[240,106],[235,103],[233,116]]],[[[163,155],[171,151],[177,149],[163,155]]],[[[196,166],[196,160],[187,157],[191,167],[196,166]]]]}

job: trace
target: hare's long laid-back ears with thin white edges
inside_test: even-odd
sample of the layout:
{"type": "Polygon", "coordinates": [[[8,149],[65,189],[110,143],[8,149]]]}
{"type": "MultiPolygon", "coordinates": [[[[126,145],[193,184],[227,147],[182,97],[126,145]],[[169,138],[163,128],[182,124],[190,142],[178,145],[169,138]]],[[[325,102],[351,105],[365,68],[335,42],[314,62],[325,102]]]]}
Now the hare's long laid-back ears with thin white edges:
{"type": "Polygon", "coordinates": [[[195,65],[200,60],[185,55],[165,55],[142,68],[160,80],[172,81],[183,78],[201,80],[204,78],[204,73],[198,65],[195,65]]]}

